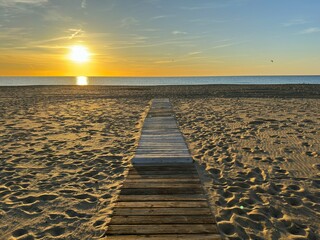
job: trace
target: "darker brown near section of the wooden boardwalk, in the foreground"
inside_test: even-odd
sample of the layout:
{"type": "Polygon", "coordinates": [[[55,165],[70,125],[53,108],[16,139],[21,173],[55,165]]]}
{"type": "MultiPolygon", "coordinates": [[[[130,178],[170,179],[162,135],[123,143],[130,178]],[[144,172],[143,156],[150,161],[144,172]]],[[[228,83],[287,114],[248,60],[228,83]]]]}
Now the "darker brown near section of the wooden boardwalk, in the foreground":
{"type": "Polygon", "coordinates": [[[107,239],[221,239],[194,164],[134,166],[128,174],[107,239]]]}

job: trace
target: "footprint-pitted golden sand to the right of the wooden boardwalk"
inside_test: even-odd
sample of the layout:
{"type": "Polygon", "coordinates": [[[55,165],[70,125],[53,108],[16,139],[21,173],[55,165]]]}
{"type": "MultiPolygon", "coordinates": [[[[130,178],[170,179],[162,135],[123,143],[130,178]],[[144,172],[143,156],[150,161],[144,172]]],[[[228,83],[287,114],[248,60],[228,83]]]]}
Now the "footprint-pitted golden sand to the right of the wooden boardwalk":
{"type": "Polygon", "coordinates": [[[319,239],[319,99],[180,99],[174,106],[209,174],[225,237],[319,239]]]}

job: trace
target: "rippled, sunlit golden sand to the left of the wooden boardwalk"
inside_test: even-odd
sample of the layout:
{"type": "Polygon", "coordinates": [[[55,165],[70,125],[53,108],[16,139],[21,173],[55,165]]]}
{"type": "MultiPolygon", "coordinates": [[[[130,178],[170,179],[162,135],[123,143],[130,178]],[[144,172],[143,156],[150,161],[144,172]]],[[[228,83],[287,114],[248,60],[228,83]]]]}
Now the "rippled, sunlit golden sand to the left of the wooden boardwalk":
{"type": "Polygon", "coordinates": [[[30,101],[2,106],[0,239],[101,236],[148,100],[30,101]]]}

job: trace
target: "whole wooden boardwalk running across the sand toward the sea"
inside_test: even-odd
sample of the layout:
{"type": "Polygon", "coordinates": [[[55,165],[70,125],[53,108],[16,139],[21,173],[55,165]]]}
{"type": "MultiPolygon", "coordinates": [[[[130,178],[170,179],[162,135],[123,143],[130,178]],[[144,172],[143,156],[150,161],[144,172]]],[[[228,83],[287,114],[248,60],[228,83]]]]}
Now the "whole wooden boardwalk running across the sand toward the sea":
{"type": "Polygon", "coordinates": [[[221,239],[169,99],[155,99],[107,239],[221,239]]]}

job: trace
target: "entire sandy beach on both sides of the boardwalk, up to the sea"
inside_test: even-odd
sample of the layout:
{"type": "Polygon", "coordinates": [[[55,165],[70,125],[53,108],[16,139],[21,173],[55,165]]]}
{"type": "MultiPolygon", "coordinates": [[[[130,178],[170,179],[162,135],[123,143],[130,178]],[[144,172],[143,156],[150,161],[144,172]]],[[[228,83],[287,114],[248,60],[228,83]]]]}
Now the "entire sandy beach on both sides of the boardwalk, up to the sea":
{"type": "Polygon", "coordinates": [[[320,86],[1,87],[0,239],[101,239],[154,97],[227,239],[320,239],[320,86]]]}

